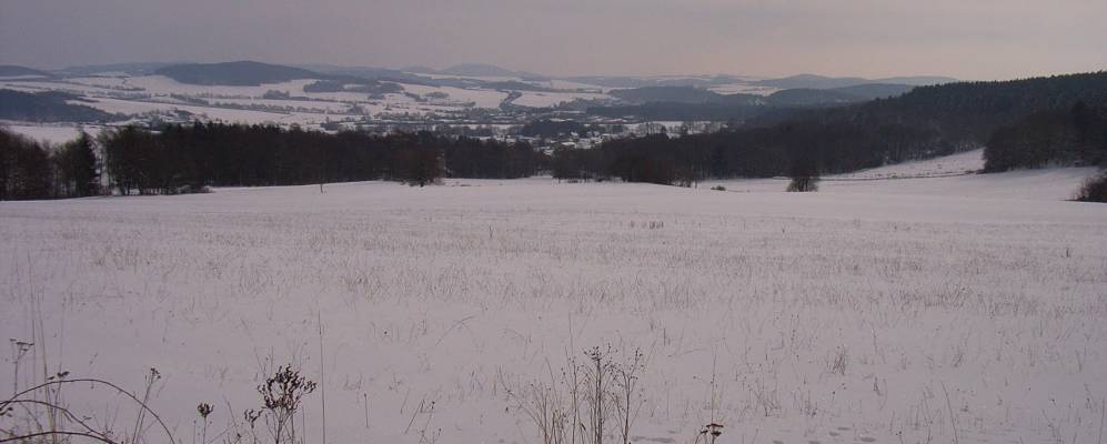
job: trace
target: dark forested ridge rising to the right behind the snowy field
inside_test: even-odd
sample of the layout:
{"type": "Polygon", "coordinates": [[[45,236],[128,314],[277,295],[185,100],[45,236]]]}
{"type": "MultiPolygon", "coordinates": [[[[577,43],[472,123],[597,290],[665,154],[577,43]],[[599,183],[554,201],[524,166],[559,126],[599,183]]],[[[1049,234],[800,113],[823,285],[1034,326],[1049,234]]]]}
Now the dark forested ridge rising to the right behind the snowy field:
{"type": "MultiPolygon", "coordinates": [[[[989,139],[993,144],[1017,140],[1020,130],[1003,129],[1027,127],[1018,123],[1031,114],[1069,110],[1081,101],[1096,110],[1107,103],[1107,72],[918,87],[862,104],[761,114],[746,125],[714,134],[617,140],[587,152],[560,150],[554,153],[554,174],[688,183],[703,178],[785,175],[798,161],[815,162],[823,173],[847,172],[974,149],[989,139]]],[[[1094,129],[1080,132],[1094,133],[1094,129]]],[[[1008,168],[999,165],[992,168],[1008,168]]]]}

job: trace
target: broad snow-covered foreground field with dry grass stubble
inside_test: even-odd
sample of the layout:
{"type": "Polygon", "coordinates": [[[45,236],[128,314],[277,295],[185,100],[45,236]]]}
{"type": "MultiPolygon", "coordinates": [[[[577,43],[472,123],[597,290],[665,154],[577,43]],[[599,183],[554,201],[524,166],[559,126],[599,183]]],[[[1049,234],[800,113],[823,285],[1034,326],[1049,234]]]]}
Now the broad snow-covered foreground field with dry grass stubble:
{"type": "MultiPolygon", "coordinates": [[[[1067,178],[1060,194],[1075,171],[1043,174],[1067,178]]],[[[1107,205],[1039,194],[1020,172],[777,184],[2,202],[0,335],[37,343],[20,386],[43,355],[50,373],[134,391],[158,369],[150,404],[178,443],[201,402],[209,440],[241,423],[284,363],[323,384],[298,425],[309,442],[322,442],[325,393],[332,443],[537,443],[526,384],[608,344],[647,360],[641,443],[692,443],[713,392],[727,443],[1099,442],[1107,205]],[[907,182],[920,184],[888,191],[907,182]]],[[[103,392],[63,397],[133,424],[103,392]]]]}

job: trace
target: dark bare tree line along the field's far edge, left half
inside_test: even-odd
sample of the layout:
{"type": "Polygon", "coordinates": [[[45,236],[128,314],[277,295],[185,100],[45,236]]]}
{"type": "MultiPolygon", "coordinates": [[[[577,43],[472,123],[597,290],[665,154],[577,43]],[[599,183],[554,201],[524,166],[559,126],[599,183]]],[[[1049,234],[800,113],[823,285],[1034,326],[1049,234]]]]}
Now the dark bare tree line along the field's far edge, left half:
{"type": "MultiPolygon", "coordinates": [[[[160,131],[124,127],[87,134],[61,147],[43,145],[0,130],[0,199],[119,194],[173,194],[205,186],[298,185],[395,180],[427,184],[442,176],[514,179],[549,168],[525,143],[453,138],[430,132],[385,135],[290,130],[272,125],[193,123],[160,131]],[[78,150],[77,147],[80,147],[78,150]],[[72,154],[72,151],[80,154],[72,154]],[[97,152],[95,155],[87,153],[97,152]],[[109,188],[81,188],[85,176],[67,167],[80,157],[80,174],[98,171],[109,188]],[[89,161],[91,159],[91,161],[89,161]],[[91,162],[92,167],[85,168],[91,162]]],[[[99,184],[99,176],[89,183],[99,184]]],[[[91,185],[90,185],[91,186],[91,185]]]]}

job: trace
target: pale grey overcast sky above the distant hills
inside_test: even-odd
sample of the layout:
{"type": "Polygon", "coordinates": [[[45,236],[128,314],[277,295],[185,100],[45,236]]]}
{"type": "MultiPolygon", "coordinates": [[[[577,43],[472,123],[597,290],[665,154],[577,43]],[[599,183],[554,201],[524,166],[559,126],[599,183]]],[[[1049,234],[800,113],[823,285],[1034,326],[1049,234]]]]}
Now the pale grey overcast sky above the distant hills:
{"type": "Polygon", "coordinates": [[[0,63],[1007,79],[1107,69],[1107,0],[0,0],[0,63]]]}

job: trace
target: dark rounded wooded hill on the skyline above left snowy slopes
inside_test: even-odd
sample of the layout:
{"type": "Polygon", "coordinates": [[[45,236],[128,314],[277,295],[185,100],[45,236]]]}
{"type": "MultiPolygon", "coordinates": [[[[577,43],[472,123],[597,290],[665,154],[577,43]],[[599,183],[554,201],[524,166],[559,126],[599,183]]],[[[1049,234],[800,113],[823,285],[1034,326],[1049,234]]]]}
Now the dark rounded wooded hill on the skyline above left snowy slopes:
{"type": "Polygon", "coordinates": [[[252,61],[225,63],[175,64],[154,71],[181,83],[228,87],[256,87],[296,79],[320,79],[323,75],[301,68],[252,61]]]}

